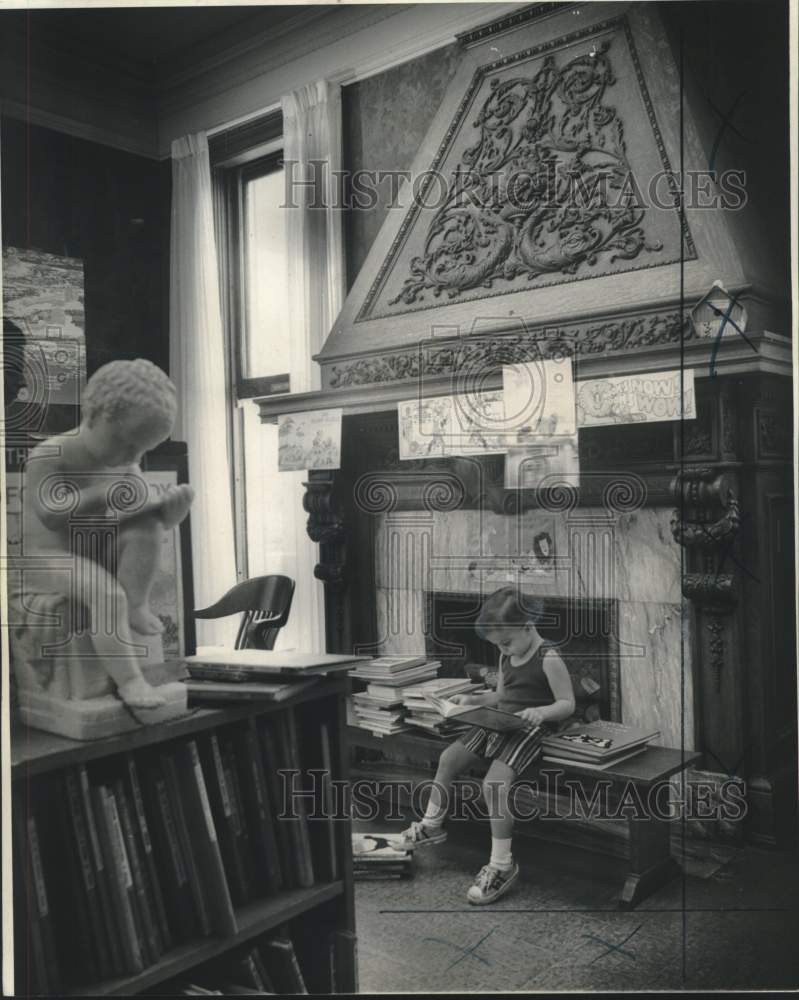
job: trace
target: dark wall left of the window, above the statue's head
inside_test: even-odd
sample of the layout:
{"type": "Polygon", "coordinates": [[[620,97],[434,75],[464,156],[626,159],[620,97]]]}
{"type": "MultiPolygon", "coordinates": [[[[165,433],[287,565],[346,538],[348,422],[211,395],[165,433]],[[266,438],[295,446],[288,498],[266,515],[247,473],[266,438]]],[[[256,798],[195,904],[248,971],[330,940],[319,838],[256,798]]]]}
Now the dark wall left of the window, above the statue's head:
{"type": "Polygon", "coordinates": [[[3,243],[84,262],[88,373],[167,369],[169,162],[9,118],[1,162],[3,243]]]}

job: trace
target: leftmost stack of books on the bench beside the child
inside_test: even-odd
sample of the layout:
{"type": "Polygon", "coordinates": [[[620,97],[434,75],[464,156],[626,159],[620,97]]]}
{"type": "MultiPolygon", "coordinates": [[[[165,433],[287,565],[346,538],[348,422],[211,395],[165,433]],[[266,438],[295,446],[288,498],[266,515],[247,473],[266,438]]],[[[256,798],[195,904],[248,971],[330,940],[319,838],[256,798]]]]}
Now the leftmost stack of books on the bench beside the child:
{"type": "Polygon", "coordinates": [[[409,686],[434,678],[441,664],[426,656],[380,656],[360,664],[350,676],[366,681],[366,690],[352,695],[355,725],[376,736],[408,729],[403,705],[409,686]]]}

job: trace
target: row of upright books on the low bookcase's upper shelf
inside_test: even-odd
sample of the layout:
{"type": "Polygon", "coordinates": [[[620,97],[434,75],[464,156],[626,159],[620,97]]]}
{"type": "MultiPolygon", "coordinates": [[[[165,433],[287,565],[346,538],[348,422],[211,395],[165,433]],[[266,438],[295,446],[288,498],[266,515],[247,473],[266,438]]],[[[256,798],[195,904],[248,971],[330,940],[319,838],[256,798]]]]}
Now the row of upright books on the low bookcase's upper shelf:
{"type": "MultiPolygon", "coordinates": [[[[302,743],[329,781],[326,725],[302,743]]],[[[300,796],[282,816],[280,769],[303,770],[293,709],[19,789],[17,960],[33,991],[136,975],[179,944],[236,934],[246,903],[338,878],[332,817],[309,821],[300,796]]]]}

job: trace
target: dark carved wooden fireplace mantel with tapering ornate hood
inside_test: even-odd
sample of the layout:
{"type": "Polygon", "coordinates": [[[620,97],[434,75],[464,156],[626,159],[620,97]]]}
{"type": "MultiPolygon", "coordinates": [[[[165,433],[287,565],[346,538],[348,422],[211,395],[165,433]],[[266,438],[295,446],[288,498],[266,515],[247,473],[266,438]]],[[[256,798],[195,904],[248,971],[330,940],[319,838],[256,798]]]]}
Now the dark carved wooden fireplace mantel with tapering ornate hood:
{"type": "Polygon", "coordinates": [[[772,842],[795,803],[785,290],[745,238],[748,206],[611,205],[601,185],[550,199],[659,172],[673,195],[681,157],[706,168],[714,136],[656,7],[537,4],[462,39],[410,171],[425,179],[388,213],[317,355],[321,389],[256,402],[265,422],[344,413],[341,468],[310,472],[304,500],[331,651],[377,649],[381,513],[673,510],[696,745],[709,770],[746,778],[750,836],[772,842]],[[747,313],[718,337],[691,319],[717,281],[747,313]],[[503,366],[553,357],[578,385],[690,369],[696,418],[581,429],[579,481],[554,491],[507,490],[501,455],[399,461],[398,403],[499,389],[503,366]]]}

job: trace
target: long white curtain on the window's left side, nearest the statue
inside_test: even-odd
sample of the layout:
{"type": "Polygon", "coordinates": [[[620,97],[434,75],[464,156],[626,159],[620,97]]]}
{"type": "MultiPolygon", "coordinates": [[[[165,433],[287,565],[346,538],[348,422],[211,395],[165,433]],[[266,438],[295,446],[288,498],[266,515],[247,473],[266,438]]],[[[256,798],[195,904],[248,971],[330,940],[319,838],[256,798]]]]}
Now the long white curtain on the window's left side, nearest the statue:
{"type": "MultiPolygon", "coordinates": [[[[211,169],[204,132],[172,143],[169,367],[178,387],[177,440],[189,451],[194,606],[236,582],[227,426],[229,405],[219,305],[211,169]]],[[[233,646],[238,621],[197,622],[198,646],[233,646]]]]}

